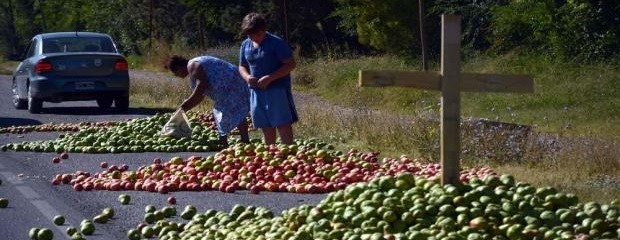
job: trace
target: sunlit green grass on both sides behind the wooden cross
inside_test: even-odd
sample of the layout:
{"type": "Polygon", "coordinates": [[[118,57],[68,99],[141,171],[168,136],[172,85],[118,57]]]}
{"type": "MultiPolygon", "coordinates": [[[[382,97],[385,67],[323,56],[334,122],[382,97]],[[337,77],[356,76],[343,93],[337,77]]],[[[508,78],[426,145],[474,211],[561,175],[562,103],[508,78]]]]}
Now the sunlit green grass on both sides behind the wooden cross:
{"type": "MultiPolygon", "coordinates": [[[[418,70],[395,57],[359,57],[302,61],[295,71],[296,89],[330,102],[359,103],[415,116],[438,111],[437,92],[398,87],[357,87],[360,69],[418,70]]],[[[535,93],[463,93],[462,115],[535,126],[537,131],[614,138],[620,132],[620,65],[556,63],[540,56],[478,57],[465,62],[465,72],[531,74],[535,93]],[[611,131],[610,131],[611,130],[611,131]]],[[[432,71],[438,71],[435,67],[432,71]]]]}

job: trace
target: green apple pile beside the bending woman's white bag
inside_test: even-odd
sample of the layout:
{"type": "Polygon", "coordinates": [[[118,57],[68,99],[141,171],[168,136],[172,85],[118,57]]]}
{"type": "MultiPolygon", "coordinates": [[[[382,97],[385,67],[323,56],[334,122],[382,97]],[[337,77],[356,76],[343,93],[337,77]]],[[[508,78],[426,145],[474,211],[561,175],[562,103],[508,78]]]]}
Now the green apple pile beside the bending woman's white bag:
{"type": "MultiPolygon", "coordinates": [[[[191,138],[161,136],[159,131],[171,114],[156,114],[122,122],[80,125],[79,131],[51,141],[11,143],[2,150],[35,152],[206,152],[222,149],[210,113],[189,113],[191,138]],[[103,127],[105,126],[105,127],[103,127]]],[[[72,130],[78,128],[72,126],[72,130]]]]}

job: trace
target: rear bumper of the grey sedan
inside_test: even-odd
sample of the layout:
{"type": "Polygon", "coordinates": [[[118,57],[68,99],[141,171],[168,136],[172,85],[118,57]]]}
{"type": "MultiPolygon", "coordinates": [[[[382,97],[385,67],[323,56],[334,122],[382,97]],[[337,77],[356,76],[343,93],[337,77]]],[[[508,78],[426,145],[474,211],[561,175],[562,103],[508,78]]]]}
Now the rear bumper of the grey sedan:
{"type": "Polygon", "coordinates": [[[129,79],[46,77],[30,80],[30,96],[44,101],[95,100],[128,94],[129,79]]]}

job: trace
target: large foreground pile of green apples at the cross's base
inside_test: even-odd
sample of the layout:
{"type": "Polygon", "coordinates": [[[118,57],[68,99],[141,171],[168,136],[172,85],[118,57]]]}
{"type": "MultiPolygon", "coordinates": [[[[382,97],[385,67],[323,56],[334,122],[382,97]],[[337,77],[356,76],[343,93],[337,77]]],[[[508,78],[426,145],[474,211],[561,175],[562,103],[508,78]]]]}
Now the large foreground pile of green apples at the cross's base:
{"type": "MultiPolygon", "coordinates": [[[[620,237],[620,202],[580,203],[574,194],[516,182],[510,175],[442,186],[401,173],[349,185],[317,205],[287,209],[279,216],[260,207],[235,205],[230,212],[194,211],[184,219],[190,217],[186,223],[162,219],[147,226],[148,236],[162,240],[620,237]]],[[[131,239],[140,236],[135,237],[131,239]]]]}

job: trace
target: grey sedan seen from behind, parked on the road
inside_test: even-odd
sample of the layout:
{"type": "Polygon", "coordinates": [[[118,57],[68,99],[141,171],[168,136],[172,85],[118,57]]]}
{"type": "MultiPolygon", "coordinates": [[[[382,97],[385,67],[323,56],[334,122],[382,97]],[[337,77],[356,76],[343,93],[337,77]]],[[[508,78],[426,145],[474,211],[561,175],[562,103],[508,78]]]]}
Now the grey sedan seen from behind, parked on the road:
{"type": "Polygon", "coordinates": [[[13,104],[39,113],[43,102],[96,100],[100,108],[129,107],[125,57],[107,34],[56,32],[36,35],[13,72],[13,104]]]}

